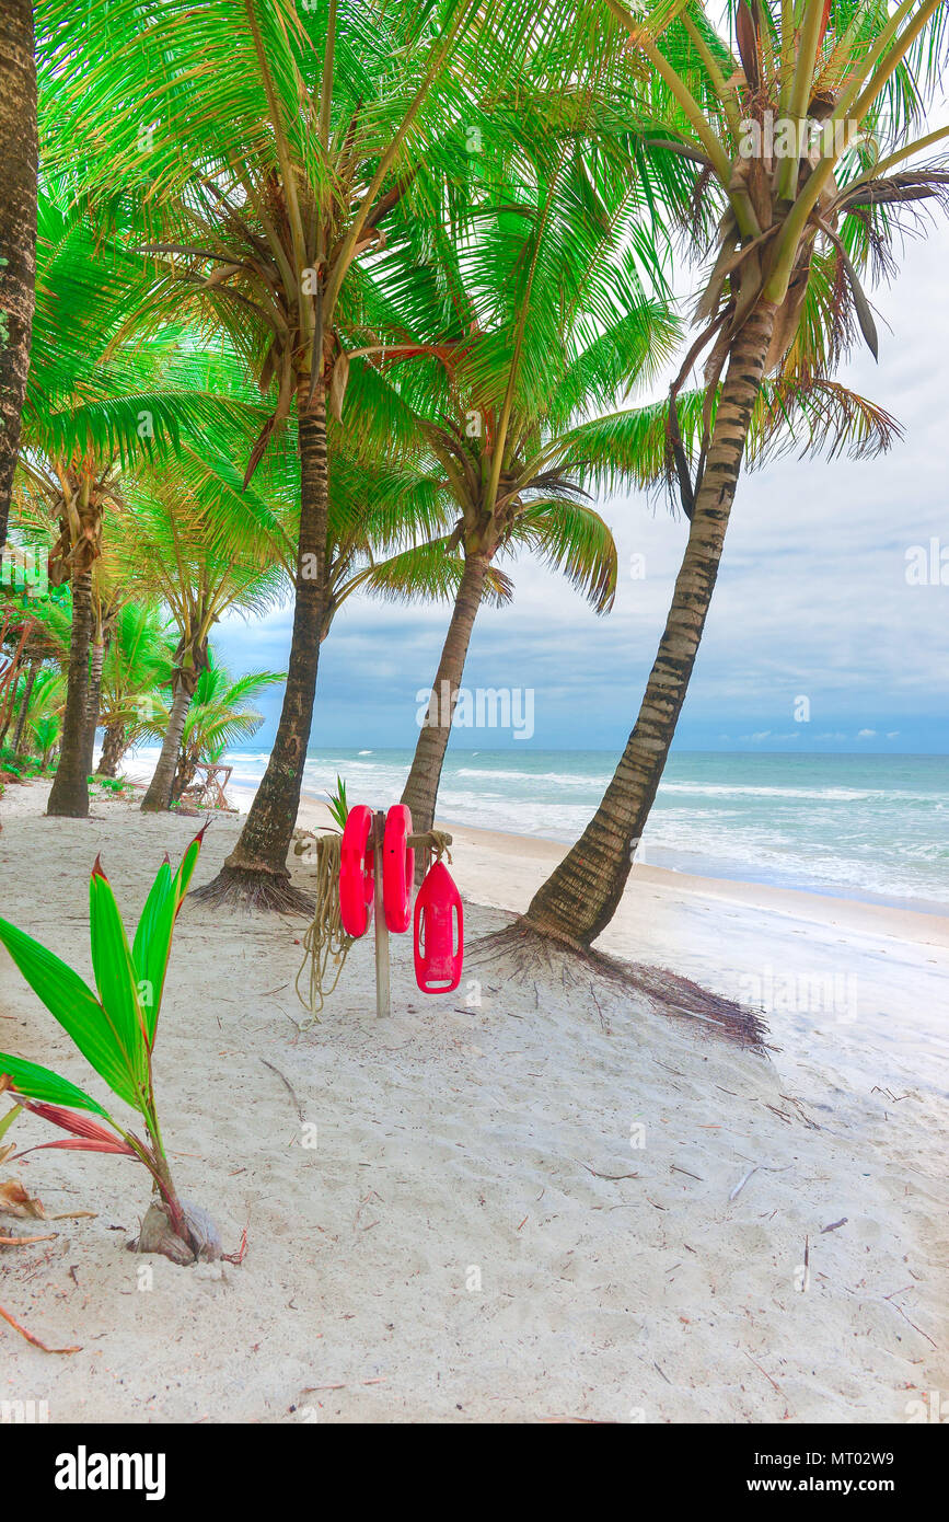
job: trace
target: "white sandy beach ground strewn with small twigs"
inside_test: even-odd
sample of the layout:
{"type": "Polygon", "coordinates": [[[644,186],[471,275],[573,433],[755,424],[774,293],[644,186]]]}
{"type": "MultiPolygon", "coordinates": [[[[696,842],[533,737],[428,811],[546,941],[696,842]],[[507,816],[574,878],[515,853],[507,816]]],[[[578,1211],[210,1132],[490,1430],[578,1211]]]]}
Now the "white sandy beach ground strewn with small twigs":
{"type": "MultiPolygon", "coordinates": [[[[46,791],[0,805],[0,913],[90,977],[96,852],[132,921],[193,822],[116,801],[47,820],[46,791]]],[[[198,881],[237,828],[214,820],[198,881]]],[[[561,849],[455,839],[470,936],[561,849]]],[[[467,982],[427,998],[409,938],[389,1021],[367,939],[300,1033],[300,933],[186,904],[164,998],[179,1189],[230,1247],[248,1227],[243,1266],[134,1257],[140,1170],[32,1154],[15,1172],[47,1212],[99,1215],[5,1251],[0,1303],[82,1352],[0,1323],[0,1400],[49,1400],[53,1422],[903,1422],[946,1388],[947,921],[637,868],[604,950],[777,1005],[771,1058],[560,962],[468,968],[479,1005],[467,982]]],[[[0,1047],[105,1097],[0,957],[0,1047]]]]}

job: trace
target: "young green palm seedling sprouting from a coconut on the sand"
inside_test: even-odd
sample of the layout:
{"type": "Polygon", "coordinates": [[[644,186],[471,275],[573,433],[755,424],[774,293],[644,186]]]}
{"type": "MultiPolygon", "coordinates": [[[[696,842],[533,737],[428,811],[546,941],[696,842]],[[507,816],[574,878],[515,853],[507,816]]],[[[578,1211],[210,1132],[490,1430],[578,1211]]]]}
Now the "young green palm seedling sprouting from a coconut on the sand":
{"type": "Polygon", "coordinates": [[[0,1052],[0,1079],[3,1075],[9,1078],[9,1094],[18,1105],[70,1132],[68,1140],[46,1142],[43,1146],[116,1152],[137,1157],[148,1167],[157,1198],[134,1245],[141,1253],[164,1253],[178,1263],[221,1256],[210,1218],[196,1205],[181,1201],[175,1190],[152,1079],[152,1053],[172,935],[202,836],[204,829],[189,845],[176,872],[172,872],[169,858],[164,858],[131,947],[116,895],[96,858],[90,878],[90,939],[97,998],[65,962],[23,930],[0,919],[0,944],[113,1093],[138,1111],[146,1138],[120,1125],[75,1084],[36,1062],[0,1052]]]}

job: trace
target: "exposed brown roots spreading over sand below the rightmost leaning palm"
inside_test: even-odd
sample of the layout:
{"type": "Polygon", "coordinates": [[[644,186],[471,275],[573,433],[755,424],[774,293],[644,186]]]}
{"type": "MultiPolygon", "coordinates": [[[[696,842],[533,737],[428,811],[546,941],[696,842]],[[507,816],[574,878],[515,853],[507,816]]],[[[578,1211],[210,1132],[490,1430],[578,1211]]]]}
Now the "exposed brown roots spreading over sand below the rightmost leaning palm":
{"type": "Polygon", "coordinates": [[[541,935],[525,919],[516,919],[503,930],[482,936],[465,954],[465,965],[493,962],[503,957],[513,973],[525,980],[538,971],[557,974],[564,986],[589,991],[590,973],[605,979],[617,992],[645,995],[663,1015],[701,1021],[709,1033],[719,1035],[754,1052],[768,1047],[768,1026],[754,1009],[745,1009],[733,998],[722,998],[701,983],[694,983],[666,968],[620,962],[619,957],[593,951],[579,942],[541,935]]]}

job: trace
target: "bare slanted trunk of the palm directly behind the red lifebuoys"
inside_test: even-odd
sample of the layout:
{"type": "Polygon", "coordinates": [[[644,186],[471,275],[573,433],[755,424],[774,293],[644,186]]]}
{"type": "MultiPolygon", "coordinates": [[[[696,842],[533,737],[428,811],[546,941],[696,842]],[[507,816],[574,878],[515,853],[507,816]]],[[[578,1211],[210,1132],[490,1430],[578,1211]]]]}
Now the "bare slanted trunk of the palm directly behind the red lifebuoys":
{"type": "MultiPolygon", "coordinates": [[[[415,755],[402,802],[412,814],[412,828],[424,834],[435,819],[435,799],[441,781],[441,767],[452,734],[452,717],[458,703],[458,688],[471,641],[471,630],[481,607],[490,560],[487,556],[468,556],[464,575],[455,598],[452,621],[441,647],[441,659],[435,673],[435,686],[426,720],[418,735],[415,755]]],[[[418,872],[424,872],[423,854],[417,857],[418,872]]]]}

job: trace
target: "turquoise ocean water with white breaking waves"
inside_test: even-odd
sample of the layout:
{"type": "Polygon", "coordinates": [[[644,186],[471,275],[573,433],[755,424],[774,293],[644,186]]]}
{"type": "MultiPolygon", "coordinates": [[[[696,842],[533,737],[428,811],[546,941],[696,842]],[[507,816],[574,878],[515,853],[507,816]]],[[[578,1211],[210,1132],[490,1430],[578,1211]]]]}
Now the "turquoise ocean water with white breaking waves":
{"type": "MultiPolygon", "coordinates": [[[[134,770],[157,752],[138,752],[134,770]]],[[[409,750],[312,750],[304,790],[339,773],[350,802],[398,799],[409,750]]],[[[234,781],[257,784],[268,755],[234,750],[234,781]]],[[[450,750],[438,814],[458,825],[575,840],[616,756],[602,750],[450,750]]],[[[675,752],[640,861],[870,901],[949,912],[949,756],[675,752]]]]}

